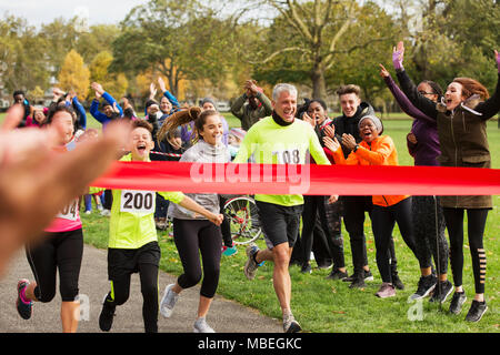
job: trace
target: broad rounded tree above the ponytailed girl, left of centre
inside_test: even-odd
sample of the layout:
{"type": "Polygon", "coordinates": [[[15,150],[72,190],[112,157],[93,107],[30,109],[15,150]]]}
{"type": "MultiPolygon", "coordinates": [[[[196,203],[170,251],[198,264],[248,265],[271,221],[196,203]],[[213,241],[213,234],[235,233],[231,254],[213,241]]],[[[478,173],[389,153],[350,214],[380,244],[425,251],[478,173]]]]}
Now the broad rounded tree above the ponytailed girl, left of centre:
{"type": "Polygon", "coordinates": [[[173,94],[181,80],[217,83],[227,72],[233,31],[199,1],[150,0],[132,9],[113,42],[112,71],[146,70],[164,78],[173,94]]]}

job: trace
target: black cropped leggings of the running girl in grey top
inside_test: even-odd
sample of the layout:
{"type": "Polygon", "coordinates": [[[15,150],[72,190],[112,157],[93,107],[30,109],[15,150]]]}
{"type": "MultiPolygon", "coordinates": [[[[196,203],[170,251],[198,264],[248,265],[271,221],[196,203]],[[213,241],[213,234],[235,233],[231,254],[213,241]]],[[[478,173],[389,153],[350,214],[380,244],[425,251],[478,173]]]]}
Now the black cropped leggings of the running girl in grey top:
{"type": "Polygon", "coordinates": [[[212,298],[219,285],[222,245],[220,227],[208,220],[173,219],[173,241],[184,268],[177,280],[179,286],[189,288],[200,282],[201,253],[204,276],[200,294],[212,298]]]}

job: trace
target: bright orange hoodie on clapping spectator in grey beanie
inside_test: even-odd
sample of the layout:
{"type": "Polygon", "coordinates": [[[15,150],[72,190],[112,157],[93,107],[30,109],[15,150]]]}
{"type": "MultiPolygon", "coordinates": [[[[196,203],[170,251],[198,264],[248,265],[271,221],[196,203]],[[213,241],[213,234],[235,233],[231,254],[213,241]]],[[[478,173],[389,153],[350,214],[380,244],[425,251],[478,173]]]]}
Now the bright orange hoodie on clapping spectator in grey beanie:
{"type": "MultiPolygon", "coordinates": [[[[336,164],[343,165],[398,165],[398,152],[396,145],[389,135],[381,135],[373,140],[369,145],[367,142],[361,141],[358,150],[351,152],[347,159],[343,158],[342,149],[331,152],[328,148],[324,148],[327,156],[333,158],[336,164]]],[[[372,196],[372,202],[379,206],[391,206],[398,202],[408,199],[409,195],[380,195],[372,196]]]]}

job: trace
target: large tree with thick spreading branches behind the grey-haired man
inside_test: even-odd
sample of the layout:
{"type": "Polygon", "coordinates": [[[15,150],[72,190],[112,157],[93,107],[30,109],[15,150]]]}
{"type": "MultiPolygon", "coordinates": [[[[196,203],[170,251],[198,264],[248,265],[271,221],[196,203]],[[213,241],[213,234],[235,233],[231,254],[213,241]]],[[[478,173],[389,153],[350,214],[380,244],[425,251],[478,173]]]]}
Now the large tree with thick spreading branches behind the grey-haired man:
{"type": "Polygon", "coordinates": [[[314,98],[326,99],[327,75],[337,71],[339,55],[392,40],[383,26],[393,30],[393,24],[383,10],[370,2],[366,7],[347,0],[261,0],[261,3],[276,9],[279,16],[254,62],[259,67],[282,68],[291,81],[309,81],[314,98]],[[371,18],[384,17],[383,23],[364,21],[363,16],[368,17],[363,9],[376,10],[371,18]]]}

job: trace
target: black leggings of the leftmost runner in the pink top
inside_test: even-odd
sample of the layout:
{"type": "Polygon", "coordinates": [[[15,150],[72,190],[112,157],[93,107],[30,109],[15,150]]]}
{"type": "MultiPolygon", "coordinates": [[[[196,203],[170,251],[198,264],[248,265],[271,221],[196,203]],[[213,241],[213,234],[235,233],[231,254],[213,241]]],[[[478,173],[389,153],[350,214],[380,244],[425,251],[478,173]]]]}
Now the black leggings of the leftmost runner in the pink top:
{"type": "Polygon", "coordinates": [[[59,290],[62,302],[77,300],[78,280],[83,256],[82,230],[49,233],[40,244],[27,246],[26,254],[37,287],[34,296],[47,303],[56,296],[56,274],[59,268],[59,290]]]}

